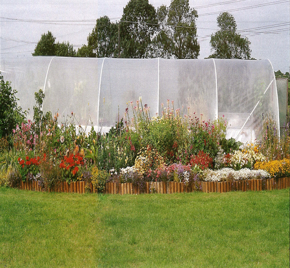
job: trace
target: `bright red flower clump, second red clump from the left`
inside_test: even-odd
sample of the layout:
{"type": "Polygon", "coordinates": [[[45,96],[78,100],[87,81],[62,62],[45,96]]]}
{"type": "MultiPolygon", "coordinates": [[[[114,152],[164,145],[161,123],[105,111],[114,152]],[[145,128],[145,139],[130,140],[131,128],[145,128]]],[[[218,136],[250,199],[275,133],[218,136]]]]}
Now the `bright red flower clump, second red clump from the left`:
{"type": "Polygon", "coordinates": [[[65,177],[67,181],[75,181],[77,179],[79,166],[83,164],[83,158],[79,154],[70,154],[69,156],[64,156],[60,164],[63,177],[65,177]]]}

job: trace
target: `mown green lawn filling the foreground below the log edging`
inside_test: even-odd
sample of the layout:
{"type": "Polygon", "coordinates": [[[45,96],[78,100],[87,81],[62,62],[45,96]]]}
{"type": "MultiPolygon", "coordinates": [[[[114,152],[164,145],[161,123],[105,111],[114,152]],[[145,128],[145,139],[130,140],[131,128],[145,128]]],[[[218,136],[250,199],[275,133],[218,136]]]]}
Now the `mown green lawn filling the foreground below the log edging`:
{"type": "Polygon", "coordinates": [[[288,268],[289,199],[0,188],[0,267],[288,268]]]}

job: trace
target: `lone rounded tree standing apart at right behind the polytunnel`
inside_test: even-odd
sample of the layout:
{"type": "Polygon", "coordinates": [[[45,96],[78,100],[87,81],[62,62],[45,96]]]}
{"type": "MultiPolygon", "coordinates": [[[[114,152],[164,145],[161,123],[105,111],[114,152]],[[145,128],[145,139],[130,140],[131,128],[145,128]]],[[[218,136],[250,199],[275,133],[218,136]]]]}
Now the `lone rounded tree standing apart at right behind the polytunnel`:
{"type": "Polygon", "coordinates": [[[214,53],[209,58],[243,59],[251,58],[251,44],[247,37],[243,38],[236,32],[237,24],[233,15],[223,12],[217,17],[220,30],[212,34],[210,44],[214,53]]]}

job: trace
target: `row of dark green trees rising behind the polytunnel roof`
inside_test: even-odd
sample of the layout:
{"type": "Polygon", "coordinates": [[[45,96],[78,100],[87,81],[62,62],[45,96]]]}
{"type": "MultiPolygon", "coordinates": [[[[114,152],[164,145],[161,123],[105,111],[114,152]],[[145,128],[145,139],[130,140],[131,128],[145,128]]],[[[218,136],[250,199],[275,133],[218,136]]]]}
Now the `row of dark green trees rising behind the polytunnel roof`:
{"type": "MultiPolygon", "coordinates": [[[[89,33],[88,44],[77,52],[68,42],[55,43],[48,31],[41,36],[33,56],[97,58],[197,59],[199,44],[198,13],[188,0],[171,0],[157,10],[148,0],[130,0],[119,22],[103,16],[89,33]]],[[[211,36],[213,54],[209,58],[250,59],[250,42],[236,32],[234,17],[228,12],[217,18],[220,30],[211,36]]]]}

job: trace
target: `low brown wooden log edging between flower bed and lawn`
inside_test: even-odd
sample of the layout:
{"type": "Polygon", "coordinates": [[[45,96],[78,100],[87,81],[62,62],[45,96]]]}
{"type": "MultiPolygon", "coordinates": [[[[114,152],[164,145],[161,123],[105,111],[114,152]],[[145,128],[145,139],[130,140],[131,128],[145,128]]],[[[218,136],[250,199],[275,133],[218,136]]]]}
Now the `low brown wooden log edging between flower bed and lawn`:
{"type": "MultiPolygon", "coordinates": [[[[48,192],[57,193],[77,193],[84,194],[86,182],[59,181],[48,189],[48,192]]],[[[21,190],[41,192],[44,189],[38,181],[21,181],[19,188],[21,190]]],[[[290,178],[271,178],[271,179],[248,179],[239,181],[200,181],[199,188],[203,193],[227,193],[231,191],[272,191],[290,188],[290,178]]],[[[90,192],[94,193],[92,183],[90,183],[90,192]]],[[[175,193],[191,193],[194,189],[186,186],[183,182],[176,181],[160,181],[146,182],[144,194],[175,194],[175,193]]],[[[118,183],[106,182],[104,194],[140,194],[140,188],[134,186],[132,182],[118,183]]]]}

